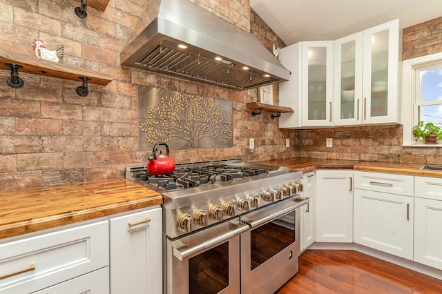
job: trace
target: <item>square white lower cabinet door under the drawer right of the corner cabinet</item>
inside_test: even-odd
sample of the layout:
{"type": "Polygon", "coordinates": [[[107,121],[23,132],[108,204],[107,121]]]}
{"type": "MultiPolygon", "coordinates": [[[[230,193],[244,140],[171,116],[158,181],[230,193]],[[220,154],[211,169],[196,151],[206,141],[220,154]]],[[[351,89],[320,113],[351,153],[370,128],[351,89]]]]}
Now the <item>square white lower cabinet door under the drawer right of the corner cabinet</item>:
{"type": "Polygon", "coordinates": [[[414,198],[354,190],[354,242],[413,259],[414,198]]]}

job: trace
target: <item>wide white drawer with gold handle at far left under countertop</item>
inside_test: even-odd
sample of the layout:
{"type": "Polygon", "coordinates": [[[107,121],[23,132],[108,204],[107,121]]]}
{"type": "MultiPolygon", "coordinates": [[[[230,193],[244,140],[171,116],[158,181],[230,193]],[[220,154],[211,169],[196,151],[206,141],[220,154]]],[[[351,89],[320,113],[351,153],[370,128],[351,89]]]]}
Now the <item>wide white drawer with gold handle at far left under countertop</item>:
{"type": "Polygon", "coordinates": [[[108,236],[104,220],[0,244],[0,293],[38,291],[108,266],[108,236]]]}

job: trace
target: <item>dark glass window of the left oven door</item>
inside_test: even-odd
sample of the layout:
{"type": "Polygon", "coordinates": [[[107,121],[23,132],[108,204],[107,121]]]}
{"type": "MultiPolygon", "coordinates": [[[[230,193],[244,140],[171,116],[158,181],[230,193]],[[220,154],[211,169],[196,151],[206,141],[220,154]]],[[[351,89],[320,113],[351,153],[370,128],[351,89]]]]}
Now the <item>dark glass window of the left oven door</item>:
{"type": "Polygon", "coordinates": [[[218,293],[229,286],[229,242],[189,259],[189,293],[218,293]]]}

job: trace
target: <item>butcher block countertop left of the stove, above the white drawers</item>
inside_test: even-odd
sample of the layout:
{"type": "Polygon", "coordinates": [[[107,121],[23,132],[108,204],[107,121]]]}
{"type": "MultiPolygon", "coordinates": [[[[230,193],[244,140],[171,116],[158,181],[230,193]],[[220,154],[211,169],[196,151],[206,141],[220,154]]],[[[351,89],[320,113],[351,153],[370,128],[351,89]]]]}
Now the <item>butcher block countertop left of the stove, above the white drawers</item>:
{"type": "Polygon", "coordinates": [[[0,239],[162,203],[127,179],[0,193],[0,239]]]}

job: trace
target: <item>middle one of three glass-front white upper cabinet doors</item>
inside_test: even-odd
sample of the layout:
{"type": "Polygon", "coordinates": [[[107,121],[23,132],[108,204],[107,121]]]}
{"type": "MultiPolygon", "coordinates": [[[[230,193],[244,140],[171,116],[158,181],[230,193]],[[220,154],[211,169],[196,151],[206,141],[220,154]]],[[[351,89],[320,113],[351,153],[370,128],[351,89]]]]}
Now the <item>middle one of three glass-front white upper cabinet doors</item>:
{"type": "Polygon", "coordinates": [[[363,32],[334,41],[334,125],[361,124],[363,32]]]}

